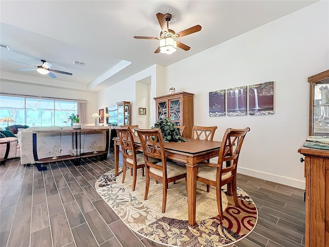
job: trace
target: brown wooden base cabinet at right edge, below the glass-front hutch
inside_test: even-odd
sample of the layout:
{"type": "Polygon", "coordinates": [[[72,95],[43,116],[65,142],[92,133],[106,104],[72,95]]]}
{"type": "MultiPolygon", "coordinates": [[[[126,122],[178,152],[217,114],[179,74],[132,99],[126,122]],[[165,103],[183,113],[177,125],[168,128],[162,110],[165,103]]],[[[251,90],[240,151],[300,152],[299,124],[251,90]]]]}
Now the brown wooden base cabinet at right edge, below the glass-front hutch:
{"type": "MultiPolygon", "coordinates": [[[[305,155],[305,247],[329,246],[329,150],[301,147],[305,155]]],[[[301,162],[303,162],[301,158],[301,162]]]]}

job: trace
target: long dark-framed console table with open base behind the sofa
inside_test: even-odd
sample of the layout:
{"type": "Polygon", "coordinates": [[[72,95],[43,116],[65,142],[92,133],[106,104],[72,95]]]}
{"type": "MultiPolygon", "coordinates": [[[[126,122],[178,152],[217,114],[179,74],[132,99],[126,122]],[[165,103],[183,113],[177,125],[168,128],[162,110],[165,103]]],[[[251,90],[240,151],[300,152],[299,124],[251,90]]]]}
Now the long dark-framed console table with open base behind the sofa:
{"type": "MultiPolygon", "coordinates": [[[[35,165],[39,171],[46,170],[47,167],[41,167],[41,163],[50,163],[50,162],[58,162],[58,161],[66,161],[66,160],[73,160],[75,165],[80,165],[81,158],[83,157],[91,157],[91,156],[101,156],[102,160],[105,160],[108,153],[109,147],[109,128],[95,128],[95,129],[62,129],[62,130],[36,130],[32,133],[32,142],[33,142],[33,157],[35,161],[35,165]],[[105,131],[106,134],[106,144],[105,144],[105,151],[97,151],[94,152],[93,150],[90,152],[79,152],[81,150],[81,133],[92,133],[92,132],[102,132],[105,131]],[[72,150],[75,149],[75,155],[60,155],[56,160],[52,157],[46,158],[38,158],[37,152],[37,136],[38,134],[58,134],[61,135],[63,133],[71,133],[71,144],[72,150]]],[[[95,150],[96,151],[96,150],[95,150]]]]}

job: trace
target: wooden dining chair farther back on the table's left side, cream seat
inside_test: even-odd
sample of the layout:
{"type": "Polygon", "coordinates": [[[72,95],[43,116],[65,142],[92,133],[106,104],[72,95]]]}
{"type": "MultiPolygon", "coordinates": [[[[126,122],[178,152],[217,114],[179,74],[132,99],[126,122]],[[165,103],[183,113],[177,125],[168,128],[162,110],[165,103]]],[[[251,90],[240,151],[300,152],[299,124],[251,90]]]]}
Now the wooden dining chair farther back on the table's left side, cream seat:
{"type": "Polygon", "coordinates": [[[143,172],[142,175],[144,176],[144,156],[142,153],[137,154],[135,149],[135,142],[133,132],[130,127],[121,127],[121,128],[114,128],[117,131],[120,145],[122,149],[122,156],[123,156],[123,175],[122,175],[122,183],[124,183],[125,175],[127,167],[131,169],[131,175],[133,175],[133,188],[132,191],[135,190],[136,187],[136,180],[137,180],[137,169],[142,168],[143,172]]]}

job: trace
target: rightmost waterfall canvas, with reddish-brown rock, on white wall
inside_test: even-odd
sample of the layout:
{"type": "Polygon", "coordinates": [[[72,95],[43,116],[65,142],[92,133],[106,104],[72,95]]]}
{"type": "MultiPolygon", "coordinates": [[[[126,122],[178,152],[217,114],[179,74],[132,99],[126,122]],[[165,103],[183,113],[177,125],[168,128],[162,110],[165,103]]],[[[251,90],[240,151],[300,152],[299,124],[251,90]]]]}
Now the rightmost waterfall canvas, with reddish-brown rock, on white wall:
{"type": "Polygon", "coordinates": [[[249,115],[272,115],[273,81],[249,85],[249,115]]]}

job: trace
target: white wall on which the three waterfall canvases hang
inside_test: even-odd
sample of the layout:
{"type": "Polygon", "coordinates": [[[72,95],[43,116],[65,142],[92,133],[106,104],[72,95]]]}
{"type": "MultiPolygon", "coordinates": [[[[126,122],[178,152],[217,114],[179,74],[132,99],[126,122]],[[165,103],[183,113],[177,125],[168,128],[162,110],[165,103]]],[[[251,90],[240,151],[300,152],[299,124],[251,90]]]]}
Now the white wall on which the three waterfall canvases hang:
{"type": "Polygon", "coordinates": [[[228,127],[251,128],[239,172],[305,187],[297,150],[308,134],[307,77],[329,68],[328,5],[310,5],[167,67],[167,87],[195,94],[194,125],[218,126],[214,140],[228,127]],[[209,92],[267,81],[275,81],[274,115],[209,117],[209,92]]]}

